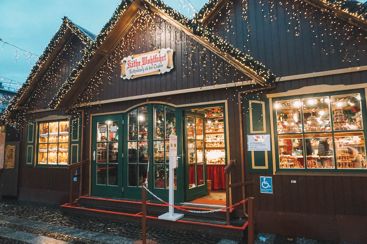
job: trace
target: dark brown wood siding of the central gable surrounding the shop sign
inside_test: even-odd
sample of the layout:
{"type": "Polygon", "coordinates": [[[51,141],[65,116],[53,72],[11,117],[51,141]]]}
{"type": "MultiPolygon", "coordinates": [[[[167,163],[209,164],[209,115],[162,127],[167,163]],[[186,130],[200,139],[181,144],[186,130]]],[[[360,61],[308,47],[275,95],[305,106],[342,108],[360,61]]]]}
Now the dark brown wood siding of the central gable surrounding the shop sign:
{"type": "Polygon", "coordinates": [[[141,21],[137,19],[133,26],[143,25],[144,29],[131,29],[124,35],[76,104],[248,80],[171,23],[160,18],[154,24],[141,21]],[[174,50],[172,71],[130,80],[120,78],[120,61],[124,57],[159,48],[174,50]]]}

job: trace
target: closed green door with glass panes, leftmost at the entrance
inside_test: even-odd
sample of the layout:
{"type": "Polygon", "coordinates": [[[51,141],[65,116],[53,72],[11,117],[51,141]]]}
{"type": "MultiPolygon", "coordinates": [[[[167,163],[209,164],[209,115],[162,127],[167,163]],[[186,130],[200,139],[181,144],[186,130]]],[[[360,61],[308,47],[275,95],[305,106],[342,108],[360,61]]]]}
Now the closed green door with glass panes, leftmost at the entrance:
{"type": "Polygon", "coordinates": [[[92,120],[92,194],[123,196],[122,115],[96,116],[92,120]]]}

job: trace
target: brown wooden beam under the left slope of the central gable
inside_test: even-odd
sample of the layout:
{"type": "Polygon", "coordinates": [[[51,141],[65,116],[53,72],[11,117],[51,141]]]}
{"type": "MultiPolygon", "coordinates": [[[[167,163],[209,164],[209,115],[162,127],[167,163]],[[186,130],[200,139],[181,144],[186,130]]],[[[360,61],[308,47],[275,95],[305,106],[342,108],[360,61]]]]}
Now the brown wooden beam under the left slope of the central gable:
{"type": "Polygon", "coordinates": [[[79,95],[88,85],[90,79],[95,75],[98,69],[103,65],[106,58],[114,50],[114,47],[120,42],[120,39],[127,33],[138,16],[139,8],[135,4],[130,4],[124,14],[117,21],[115,27],[107,35],[106,39],[98,47],[96,53],[81,70],[71,89],[64,95],[56,109],[68,110],[76,101],[79,95]]]}

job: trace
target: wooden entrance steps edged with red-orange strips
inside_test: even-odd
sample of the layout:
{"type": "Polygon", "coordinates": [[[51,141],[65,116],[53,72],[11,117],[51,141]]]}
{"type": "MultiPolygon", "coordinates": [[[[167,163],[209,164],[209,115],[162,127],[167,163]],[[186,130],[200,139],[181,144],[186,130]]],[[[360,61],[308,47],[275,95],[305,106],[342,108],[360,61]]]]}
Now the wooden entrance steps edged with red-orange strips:
{"type": "MultiPolygon", "coordinates": [[[[192,206],[177,204],[187,210],[207,211],[220,209],[215,206],[192,206]]],[[[109,198],[102,196],[81,196],[73,206],[64,204],[61,209],[66,213],[87,215],[90,217],[112,219],[123,222],[141,224],[141,202],[135,199],[109,198]]],[[[231,209],[231,215],[234,209],[231,209]]],[[[159,202],[147,202],[147,224],[167,229],[194,231],[210,234],[215,237],[242,240],[247,227],[247,219],[231,218],[231,225],[226,225],[226,212],[221,210],[214,213],[189,213],[175,209],[175,213],[183,213],[184,217],[175,222],[158,219],[158,216],[168,212],[168,206],[159,202]]]]}

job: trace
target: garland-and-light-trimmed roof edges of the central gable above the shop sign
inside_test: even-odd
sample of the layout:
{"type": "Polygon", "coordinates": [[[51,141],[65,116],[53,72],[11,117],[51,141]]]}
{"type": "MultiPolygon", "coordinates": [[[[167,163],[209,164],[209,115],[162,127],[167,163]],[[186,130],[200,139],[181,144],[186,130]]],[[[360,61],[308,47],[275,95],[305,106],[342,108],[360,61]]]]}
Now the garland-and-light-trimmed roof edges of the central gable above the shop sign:
{"type": "Polygon", "coordinates": [[[201,23],[186,18],[162,1],[123,0],[117,7],[113,16],[97,35],[95,42],[92,45],[86,47],[84,57],[81,59],[79,64],[70,74],[69,78],[65,81],[58,93],[49,103],[50,108],[70,108],[72,103],[76,100],[76,96],[81,93],[81,90],[86,86],[86,83],[89,81],[90,76],[92,75],[90,74],[91,72],[83,72],[83,69],[86,67],[86,65],[101,65],[101,63],[98,63],[98,61],[104,59],[109,50],[113,48],[113,46],[107,46],[105,42],[115,44],[115,42],[110,40],[112,37],[109,38],[113,35],[117,36],[116,33],[110,34],[113,31],[113,28],[116,25],[119,25],[118,28],[122,28],[118,30],[120,32],[124,30],[123,28],[127,28],[127,23],[130,24],[135,19],[139,8],[143,10],[150,8],[151,10],[158,12],[159,14],[162,14],[166,18],[172,20],[172,22],[177,23],[181,29],[185,29],[190,34],[198,37],[202,43],[209,45],[212,50],[215,50],[218,56],[223,57],[234,66],[237,65],[236,67],[239,68],[240,71],[246,73],[246,75],[248,75],[251,79],[254,79],[255,82],[260,83],[261,85],[270,85],[275,81],[275,75],[266,69],[263,64],[254,60],[251,56],[240,52],[239,49],[234,48],[222,38],[214,36],[212,31],[201,25],[201,23]],[[62,105],[60,105],[61,102],[63,103],[62,105]]]}

